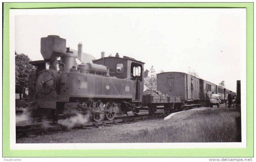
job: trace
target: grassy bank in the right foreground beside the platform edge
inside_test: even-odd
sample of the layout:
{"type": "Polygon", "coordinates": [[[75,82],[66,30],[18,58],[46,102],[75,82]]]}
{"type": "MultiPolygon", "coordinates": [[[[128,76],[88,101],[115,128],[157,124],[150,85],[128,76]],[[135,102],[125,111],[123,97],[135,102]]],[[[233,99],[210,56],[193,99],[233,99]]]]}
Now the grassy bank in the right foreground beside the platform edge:
{"type": "Polygon", "coordinates": [[[180,114],[173,116],[166,126],[131,134],[130,142],[239,142],[236,111],[220,108],[199,110],[187,116],[180,114]]]}

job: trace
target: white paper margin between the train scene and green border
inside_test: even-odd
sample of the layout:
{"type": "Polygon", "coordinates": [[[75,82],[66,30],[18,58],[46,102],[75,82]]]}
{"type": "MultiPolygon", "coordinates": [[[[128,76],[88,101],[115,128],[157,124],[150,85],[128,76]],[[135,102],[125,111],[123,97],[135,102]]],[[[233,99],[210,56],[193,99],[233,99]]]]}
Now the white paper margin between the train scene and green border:
{"type": "MultiPolygon", "coordinates": [[[[90,9],[90,10],[96,10],[90,9]]],[[[106,10],[107,8],[101,9],[106,10]]],[[[113,9],[111,10],[121,10],[113,9]]],[[[123,9],[123,8],[122,8],[123,9]]],[[[143,10],[142,8],[126,8],[126,10],[143,10]]],[[[150,8],[159,10],[159,8],[150,8]]],[[[163,9],[163,8],[162,8],[163,9]]],[[[163,10],[166,10],[165,8],[163,10]]],[[[239,8],[244,9],[246,8],[239,8]]],[[[62,15],[83,14],[88,9],[11,9],[10,10],[10,149],[124,149],[124,148],[246,148],[246,55],[242,56],[241,70],[241,117],[242,117],[242,142],[234,143],[16,143],[15,123],[15,16],[16,15],[62,15]],[[47,13],[47,14],[45,14],[47,13]]],[[[109,10],[109,9],[108,9],[109,10]]],[[[213,10],[213,9],[212,9],[213,10]]],[[[244,12],[246,17],[246,12],[244,12]]],[[[244,37],[246,42],[246,19],[244,19],[244,37]]],[[[246,54],[246,43],[242,48],[246,54]]]]}

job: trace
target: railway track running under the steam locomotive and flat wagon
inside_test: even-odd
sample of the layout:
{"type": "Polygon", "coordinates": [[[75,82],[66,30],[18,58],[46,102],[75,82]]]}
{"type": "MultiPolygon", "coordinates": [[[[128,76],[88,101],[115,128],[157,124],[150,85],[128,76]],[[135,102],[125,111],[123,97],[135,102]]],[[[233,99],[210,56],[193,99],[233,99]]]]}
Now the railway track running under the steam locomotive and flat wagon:
{"type": "MultiPolygon", "coordinates": [[[[153,116],[149,114],[139,115],[139,116],[122,116],[117,117],[114,120],[104,120],[100,122],[87,122],[83,124],[75,125],[73,128],[88,128],[89,126],[99,127],[99,125],[104,126],[110,126],[109,124],[114,123],[120,123],[120,122],[132,122],[137,120],[145,120],[149,118],[161,118],[166,116],[164,113],[156,113],[153,116]]],[[[52,122],[44,122],[44,123],[36,123],[32,125],[19,125],[16,126],[16,137],[20,136],[27,136],[27,137],[33,137],[36,134],[39,133],[52,133],[57,131],[70,131],[67,129],[67,127],[64,127],[63,125],[60,125],[58,123],[52,123],[52,122]]]]}

